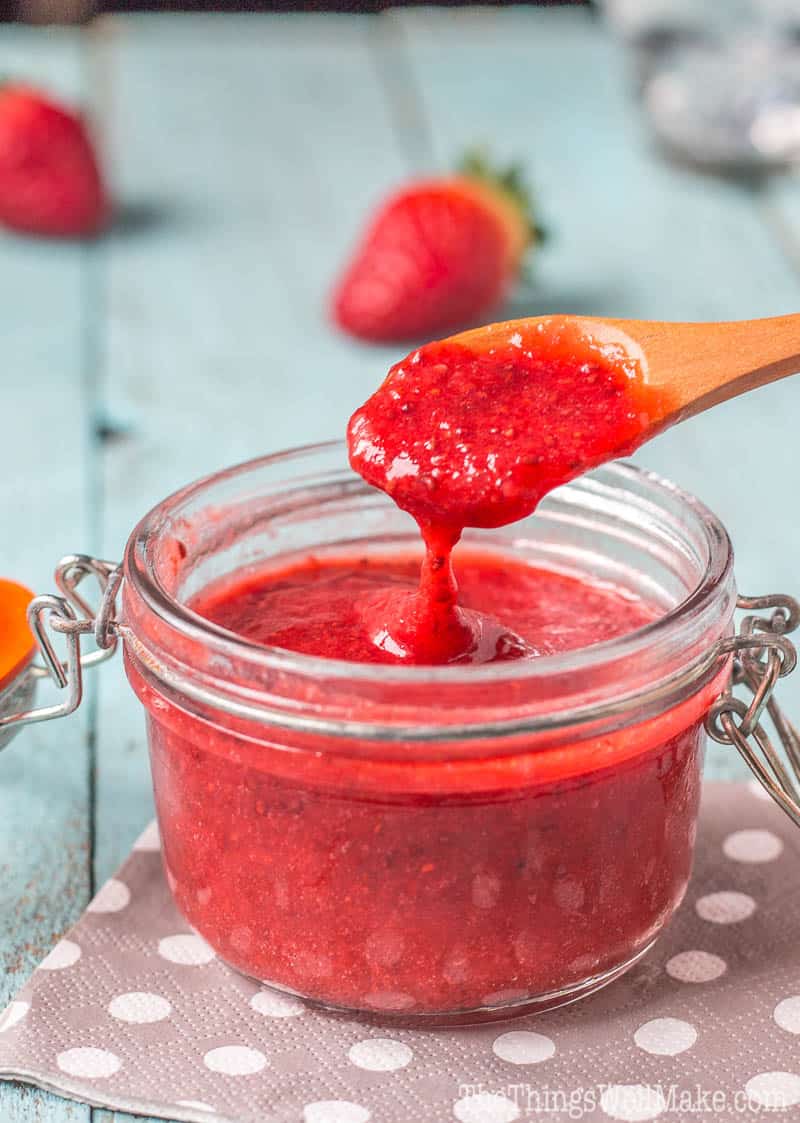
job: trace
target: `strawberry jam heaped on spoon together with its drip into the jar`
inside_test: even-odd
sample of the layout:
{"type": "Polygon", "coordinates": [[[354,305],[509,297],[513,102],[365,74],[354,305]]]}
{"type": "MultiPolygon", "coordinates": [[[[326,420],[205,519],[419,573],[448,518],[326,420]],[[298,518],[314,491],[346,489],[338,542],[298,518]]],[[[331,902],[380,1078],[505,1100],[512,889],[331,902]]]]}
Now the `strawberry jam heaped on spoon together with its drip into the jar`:
{"type": "Polygon", "coordinates": [[[494,327],[507,330],[413,351],[349,421],[351,464],[413,515],[426,544],[418,593],[378,603],[372,622],[409,663],[524,656],[518,636],[487,634],[458,604],[454,545],[464,527],[521,519],[553,487],[633,451],[660,413],[619,348],[580,340],[558,321],[526,335],[494,327]]]}

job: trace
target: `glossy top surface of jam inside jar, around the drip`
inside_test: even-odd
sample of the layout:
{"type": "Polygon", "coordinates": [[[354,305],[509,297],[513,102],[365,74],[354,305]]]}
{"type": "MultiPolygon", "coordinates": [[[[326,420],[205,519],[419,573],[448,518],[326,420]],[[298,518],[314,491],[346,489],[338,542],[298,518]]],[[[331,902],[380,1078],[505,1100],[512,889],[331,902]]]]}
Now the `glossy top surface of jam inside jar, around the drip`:
{"type": "MultiPolygon", "coordinates": [[[[288,569],[212,586],[194,608],[256,643],[328,659],[393,663],[393,654],[373,641],[365,615],[383,596],[413,593],[418,577],[416,557],[309,557],[288,569]]],[[[656,615],[612,586],[471,550],[458,556],[458,601],[488,631],[513,628],[528,658],[612,639],[656,615]]]]}

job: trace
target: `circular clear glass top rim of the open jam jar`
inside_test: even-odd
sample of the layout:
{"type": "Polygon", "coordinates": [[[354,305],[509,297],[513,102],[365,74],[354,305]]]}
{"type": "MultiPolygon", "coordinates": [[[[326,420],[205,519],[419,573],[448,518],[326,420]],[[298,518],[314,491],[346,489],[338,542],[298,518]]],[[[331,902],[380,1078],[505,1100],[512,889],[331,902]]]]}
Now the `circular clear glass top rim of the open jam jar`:
{"type": "MultiPolygon", "coordinates": [[[[148,545],[160,526],[167,523],[176,509],[203,491],[237,476],[260,468],[313,457],[320,454],[339,453],[342,440],[328,440],[272,453],[263,457],[210,473],[184,487],[179,489],[151,509],[131,532],[125,550],[125,573],[133,583],[144,604],[160,619],[178,632],[196,641],[211,641],[220,655],[246,656],[248,663],[257,663],[265,668],[302,676],[324,675],[326,678],[347,678],[349,682],[374,681],[397,686],[419,684],[464,684],[465,682],[489,685],[497,682],[513,682],[538,676],[587,670],[611,659],[635,657],[637,651],[648,648],[680,629],[688,617],[703,614],[713,604],[720,586],[733,576],[733,546],[725,526],[713,512],[697,496],[649,469],[628,462],[615,462],[593,473],[565,485],[573,492],[591,489],[592,480],[599,474],[609,478],[622,490],[625,484],[642,483],[656,494],[671,496],[688,508],[700,528],[708,548],[706,573],[683,600],[655,620],[612,639],[587,647],[537,656],[535,659],[511,660],[494,664],[455,664],[449,666],[404,666],[402,664],[367,664],[325,656],[307,655],[287,648],[271,647],[237,636],[194,612],[173,596],[158,579],[148,560],[148,545]]],[[[355,477],[357,480],[357,477],[355,477]]],[[[355,481],[354,481],[355,482],[355,481]]],[[[357,481],[364,490],[367,485],[357,481]]]]}

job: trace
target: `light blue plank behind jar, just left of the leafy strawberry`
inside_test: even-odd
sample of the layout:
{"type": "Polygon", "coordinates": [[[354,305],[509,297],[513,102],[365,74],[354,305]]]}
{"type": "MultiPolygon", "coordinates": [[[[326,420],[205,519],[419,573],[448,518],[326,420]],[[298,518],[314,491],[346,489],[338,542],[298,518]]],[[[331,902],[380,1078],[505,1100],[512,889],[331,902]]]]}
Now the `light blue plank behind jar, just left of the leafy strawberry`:
{"type": "MultiPolygon", "coordinates": [[[[142,19],[110,27],[101,49],[120,191],[153,214],[108,247],[103,408],[126,436],[103,458],[102,549],[119,557],[187,481],[344,430],[391,353],[331,332],[328,287],[406,168],[362,21],[142,19]]],[[[99,877],[149,807],[140,707],[108,669],[99,877]]]]}

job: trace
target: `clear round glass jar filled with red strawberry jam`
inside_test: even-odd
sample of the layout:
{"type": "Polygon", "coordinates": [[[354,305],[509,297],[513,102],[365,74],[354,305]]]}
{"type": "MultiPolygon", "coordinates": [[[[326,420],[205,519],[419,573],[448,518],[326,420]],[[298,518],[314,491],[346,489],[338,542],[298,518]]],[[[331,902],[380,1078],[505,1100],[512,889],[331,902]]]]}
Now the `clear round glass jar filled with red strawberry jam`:
{"type": "MultiPolygon", "coordinates": [[[[661,615],[528,661],[406,667],[265,648],[193,612],[209,584],[292,555],[418,548],[337,442],[172,495],[121,573],[66,559],[101,578],[97,619],[62,570],[87,619],[52,627],[122,640],[178,907],[236,969],[328,1007],[439,1024],[571,1002],[636,962],[687,888],[703,723],[730,677],[724,527],[615,464],[465,538],[661,615]]],[[[72,648],[67,664],[78,704],[72,648]]]]}

